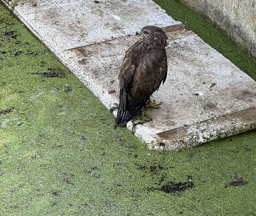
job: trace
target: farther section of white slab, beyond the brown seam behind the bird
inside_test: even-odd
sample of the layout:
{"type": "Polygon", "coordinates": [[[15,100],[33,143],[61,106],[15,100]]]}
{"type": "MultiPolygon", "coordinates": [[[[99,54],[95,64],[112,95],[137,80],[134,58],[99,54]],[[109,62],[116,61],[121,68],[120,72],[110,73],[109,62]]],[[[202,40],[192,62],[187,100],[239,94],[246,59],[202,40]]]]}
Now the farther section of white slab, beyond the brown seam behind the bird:
{"type": "Polygon", "coordinates": [[[55,52],[134,34],[143,25],[180,24],[151,0],[2,1],[55,52]]]}

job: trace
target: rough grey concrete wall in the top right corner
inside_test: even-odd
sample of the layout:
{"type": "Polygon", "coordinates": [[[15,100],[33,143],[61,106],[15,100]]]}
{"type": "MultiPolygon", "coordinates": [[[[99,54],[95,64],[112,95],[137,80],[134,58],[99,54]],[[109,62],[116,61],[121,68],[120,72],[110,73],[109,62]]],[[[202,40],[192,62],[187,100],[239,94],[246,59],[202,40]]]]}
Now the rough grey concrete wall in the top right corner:
{"type": "Polygon", "coordinates": [[[181,0],[203,14],[256,59],[256,1],[181,0]]]}

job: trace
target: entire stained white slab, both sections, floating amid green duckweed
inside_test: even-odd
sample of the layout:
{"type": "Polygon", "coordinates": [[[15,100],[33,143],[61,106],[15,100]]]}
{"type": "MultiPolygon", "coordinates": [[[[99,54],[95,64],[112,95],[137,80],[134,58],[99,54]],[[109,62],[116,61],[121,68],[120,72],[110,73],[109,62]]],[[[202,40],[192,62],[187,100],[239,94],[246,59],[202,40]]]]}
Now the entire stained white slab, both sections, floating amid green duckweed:
{"type": "Polygon", "coordinates": [[[168,76],[153,95],[162,109],[146,110],[144,124],[127,124],[150,149],[175,151],[256,128],[256,82],[152,1],[32,3],[21,0],[14,12],[111,110],[134,32],[170,26],[168,76]]]}

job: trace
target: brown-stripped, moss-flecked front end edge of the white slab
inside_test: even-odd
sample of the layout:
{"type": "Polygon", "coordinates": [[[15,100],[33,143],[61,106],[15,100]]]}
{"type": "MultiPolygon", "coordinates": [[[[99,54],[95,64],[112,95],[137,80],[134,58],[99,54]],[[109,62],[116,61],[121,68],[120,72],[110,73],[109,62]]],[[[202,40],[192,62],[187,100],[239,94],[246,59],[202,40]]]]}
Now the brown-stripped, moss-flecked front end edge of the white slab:
{"type": "Polygon", "coordinates": [[[157,133],[155,139],[162,141],[159,141],[158,145],[150,143],[148,148],[179,151],[254,129],[256,129],[256,107],[157,133]],[[236,122],[233,119],[236,119],[236,122]],[[211,130],[213,127],[216,128],[214,134],[211,130]]]}

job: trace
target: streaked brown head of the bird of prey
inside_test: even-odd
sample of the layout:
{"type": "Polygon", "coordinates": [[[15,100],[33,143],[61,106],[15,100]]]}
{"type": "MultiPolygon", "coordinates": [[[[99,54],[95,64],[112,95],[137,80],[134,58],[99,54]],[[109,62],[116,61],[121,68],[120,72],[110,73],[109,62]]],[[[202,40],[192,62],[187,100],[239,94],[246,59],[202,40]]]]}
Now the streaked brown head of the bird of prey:
{"type": "Polygon", "coordinates": [[[167,44],[168,37],[165,32],[157,26],[145,26],[136,32],[136,35],[142,35],[144,39],[158,41],[167,44]]]}

